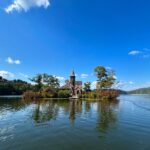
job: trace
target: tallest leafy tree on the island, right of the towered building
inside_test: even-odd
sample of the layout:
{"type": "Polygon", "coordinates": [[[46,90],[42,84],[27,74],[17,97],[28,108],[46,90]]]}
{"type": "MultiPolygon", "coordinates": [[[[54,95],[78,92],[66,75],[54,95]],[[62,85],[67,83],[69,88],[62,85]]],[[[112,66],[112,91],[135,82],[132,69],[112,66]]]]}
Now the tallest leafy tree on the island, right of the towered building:
{"type": "Polygon", "coordinates": [[[113,70],[108,70],[103,66],[98,66],[94,70],[97,76],[97,89],[109,89],[115,83],[115,72],[113,70]]]}

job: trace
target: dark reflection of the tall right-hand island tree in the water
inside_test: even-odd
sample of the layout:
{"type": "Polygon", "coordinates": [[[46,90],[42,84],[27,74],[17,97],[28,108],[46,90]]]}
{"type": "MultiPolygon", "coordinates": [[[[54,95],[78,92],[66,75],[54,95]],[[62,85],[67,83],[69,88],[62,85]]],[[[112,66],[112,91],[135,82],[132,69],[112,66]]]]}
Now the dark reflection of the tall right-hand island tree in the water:
{"type": "Polygon", "coordinates": [[[118,101],[98,102],[98,123],[97,129],[105,133],[117,121],[115,108],[118,106],[118,101]]]}

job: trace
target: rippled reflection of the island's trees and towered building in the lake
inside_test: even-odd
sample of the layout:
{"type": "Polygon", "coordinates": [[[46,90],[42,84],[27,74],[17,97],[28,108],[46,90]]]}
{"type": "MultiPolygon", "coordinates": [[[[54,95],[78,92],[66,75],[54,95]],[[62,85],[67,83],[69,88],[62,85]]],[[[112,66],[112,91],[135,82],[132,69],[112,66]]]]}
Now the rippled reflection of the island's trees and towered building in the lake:
{"type": "MultiPolygon", "coordinates": [[[[96,102],[97,105],[97,123],[96,128],[105,133],[117,121],[115,109],[119,101],[96,102]]],[[[62,100],[41,100],[36,103],[32,111],[32,119],[35,123],[46,123],[51,120],[56,120],[59,113],[69,116],[70,124],[74,125],[77,117],[82,115],[82,112],[89,113],[92,109],[92,102],[89,101],[62,101],[62,100]],[[77,116],[78,114],[78,116],[77,116]]]]}

